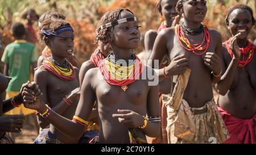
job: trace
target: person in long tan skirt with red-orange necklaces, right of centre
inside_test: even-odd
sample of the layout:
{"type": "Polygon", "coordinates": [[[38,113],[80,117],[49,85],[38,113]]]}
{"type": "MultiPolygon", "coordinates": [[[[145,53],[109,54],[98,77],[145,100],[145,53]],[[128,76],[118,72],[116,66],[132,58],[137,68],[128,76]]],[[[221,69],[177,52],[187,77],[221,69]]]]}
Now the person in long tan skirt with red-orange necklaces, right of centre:
{"type": "Polygon", "coordinates": [[[171,63],[158,70],[159,78],[173,76],[176,83],[172,94],[163,95],[168,143],[210,143],[210,137],[222,143],[229,137],[213,100],[212,83],[218,82],[221,74],[221,35],[201,23],[206,3],[178,1],[176,9],[184,21],[159,32],[150,56],[150,60],[161,62],[168,53],[171,63]]]}

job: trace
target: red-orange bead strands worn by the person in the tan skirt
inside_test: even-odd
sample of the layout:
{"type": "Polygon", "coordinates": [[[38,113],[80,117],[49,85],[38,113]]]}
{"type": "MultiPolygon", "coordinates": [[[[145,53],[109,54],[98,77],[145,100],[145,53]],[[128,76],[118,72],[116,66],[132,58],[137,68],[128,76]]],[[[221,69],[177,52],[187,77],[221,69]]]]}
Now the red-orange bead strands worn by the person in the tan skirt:
{"type": "Polygon", "coordinates": [[[201,24],[200,28],[197,30],[190,30],[184,26],[184,23],[181,23],[175,27],[177,37],[179,39],[180,45],[187,51],[193,52],[195,55],[204,55],[207,52],[207,49],[210,46],[210,31],[206,26],[201,24]],[[188,38],[185,36],[185,33],[191,35],[197,35],[201,32],[204,32],[203,41],[200,44],[191,44],[188,38]]]}

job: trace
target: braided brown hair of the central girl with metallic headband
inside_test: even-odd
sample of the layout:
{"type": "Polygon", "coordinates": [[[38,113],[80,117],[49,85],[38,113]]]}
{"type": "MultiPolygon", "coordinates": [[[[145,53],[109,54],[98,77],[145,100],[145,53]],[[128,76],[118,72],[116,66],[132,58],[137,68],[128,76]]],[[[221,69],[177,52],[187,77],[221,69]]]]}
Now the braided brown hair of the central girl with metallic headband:
{"type": "MultiPolygon", "coordinates": [[[[114,22],[116,20],[118,20],[119,15],[122,11],[129,11],[131,12],[129,9],[125,9],[125,8],[117,8],[114,10],[110,10],[108,12],[106,12],[100,19],[100,23],[97,26],[97,36],[96,36],[96,43],[98,42],[98,40],[107,43],[110,41],[110,33],[113,30],[113,27],[109,27],[109,28],[104,28],[104,29],[100,29],[100,27],[106,23],[110,23],[110,22],[114,22]]],[[[132,14],[134,14],[133,12],[131,12],[132,14]]]]}

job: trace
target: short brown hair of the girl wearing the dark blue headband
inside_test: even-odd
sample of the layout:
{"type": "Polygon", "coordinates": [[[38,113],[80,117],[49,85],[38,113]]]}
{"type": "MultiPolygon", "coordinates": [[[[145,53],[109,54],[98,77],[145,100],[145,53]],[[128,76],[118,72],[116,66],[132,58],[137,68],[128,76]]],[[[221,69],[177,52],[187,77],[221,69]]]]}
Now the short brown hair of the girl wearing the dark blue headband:
{"type": "MultiPolygon", "coordinates": [[[[67,21],[63,19],[47,19],[44,20],[41,26],[41,30],[56,30],[56,28],[59,28],[61,26],[71,26],[67,21]]],[[[40,41],[47,44],[48,39],[51,38],[51,36],[44,35],[41,31],[38,31],[38,36],[40,38],[40,41]]]]}

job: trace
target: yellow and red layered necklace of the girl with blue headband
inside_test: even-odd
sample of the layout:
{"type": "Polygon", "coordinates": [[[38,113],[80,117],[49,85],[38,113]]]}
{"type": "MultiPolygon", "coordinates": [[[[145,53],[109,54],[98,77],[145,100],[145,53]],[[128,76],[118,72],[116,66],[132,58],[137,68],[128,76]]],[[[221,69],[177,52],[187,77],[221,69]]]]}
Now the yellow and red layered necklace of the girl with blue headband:
{"type": "Polygon", "coordinates": [[[47,57],[44,58],[42,67],[64,81],[70,81],[76,77],[76,70],[67,59],[65,59],[64,64],[61,64],[60,62],[53,60],[51,57],[47,57]]]}

